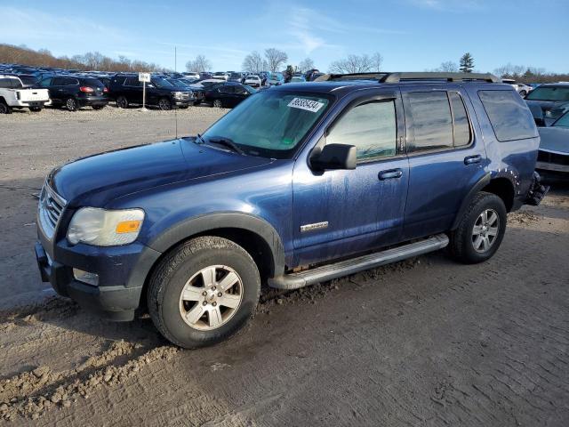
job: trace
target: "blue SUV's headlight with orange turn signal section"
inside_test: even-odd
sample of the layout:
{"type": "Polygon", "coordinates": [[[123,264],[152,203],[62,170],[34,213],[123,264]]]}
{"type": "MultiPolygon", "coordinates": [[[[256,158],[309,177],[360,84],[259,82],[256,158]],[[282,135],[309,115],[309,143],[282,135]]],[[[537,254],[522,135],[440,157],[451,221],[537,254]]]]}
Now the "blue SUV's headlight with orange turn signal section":
{"type": "Polygon", "coordinates": [[[93,246],[119,246],[132,243],[139,236],[144,211],[124,209],[108,211],[97,207],[79,209],[69,224],[68,241],[93,246]]]}

